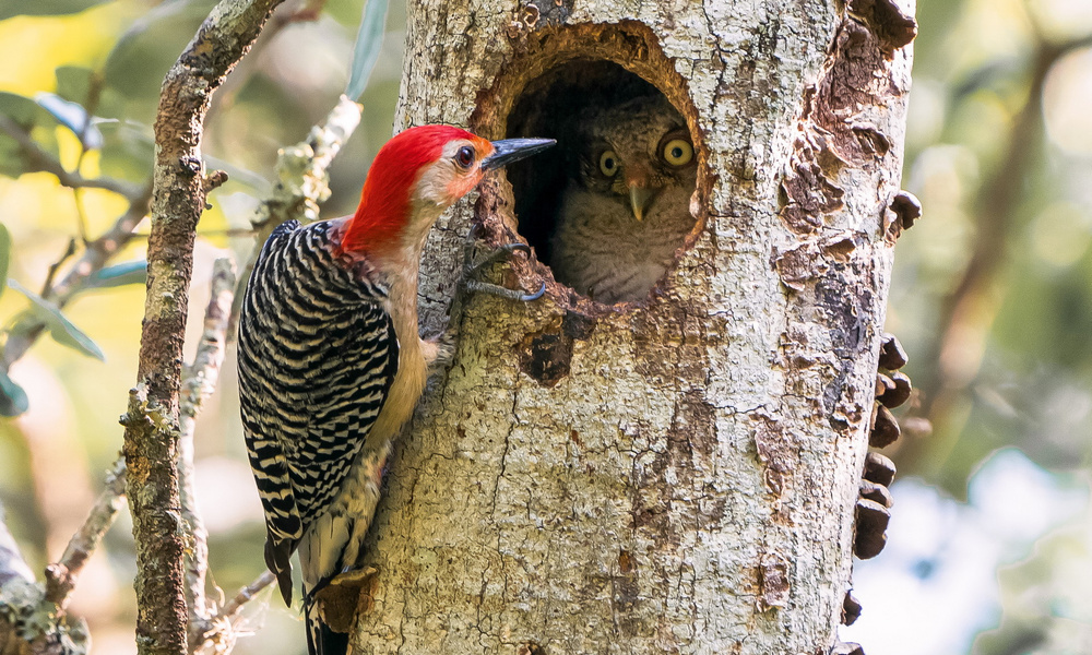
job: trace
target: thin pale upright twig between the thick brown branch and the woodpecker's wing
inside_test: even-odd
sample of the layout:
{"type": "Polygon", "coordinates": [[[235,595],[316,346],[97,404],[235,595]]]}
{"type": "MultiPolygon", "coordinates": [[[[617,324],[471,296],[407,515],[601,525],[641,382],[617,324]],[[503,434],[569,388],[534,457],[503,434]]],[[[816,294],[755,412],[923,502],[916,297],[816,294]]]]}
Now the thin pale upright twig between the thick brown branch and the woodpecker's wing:
{"type": "Polygon", "coordinates": [[[227,324],[235,293],[235,264],[217,259],[213,264],[212,297],[205,307],[204,331],[193,362],[183,372],[179,400],[178,491],[182,520],[191,546],[186,561],[186,599],[189,606],[190,650],[210,630],[210,608],[205,602],[205,572],[209,569],[209,535],[197,508],[193,485],[193,433],[204,401],[216,390],[227,346],[227,324]]]}

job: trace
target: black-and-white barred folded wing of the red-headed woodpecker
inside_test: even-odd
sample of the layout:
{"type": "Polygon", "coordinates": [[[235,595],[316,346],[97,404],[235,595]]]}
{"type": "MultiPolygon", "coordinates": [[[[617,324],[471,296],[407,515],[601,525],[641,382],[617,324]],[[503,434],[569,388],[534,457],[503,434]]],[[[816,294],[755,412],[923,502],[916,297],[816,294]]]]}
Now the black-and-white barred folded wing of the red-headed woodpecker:
{"type": "Polygon", "coordinates": [[[286,603],[289,557],[341,488],[397,371],[384,298],[335,261],[322,223],[274,231],[247,287],[239,398],[265,561],[286,603]]]}

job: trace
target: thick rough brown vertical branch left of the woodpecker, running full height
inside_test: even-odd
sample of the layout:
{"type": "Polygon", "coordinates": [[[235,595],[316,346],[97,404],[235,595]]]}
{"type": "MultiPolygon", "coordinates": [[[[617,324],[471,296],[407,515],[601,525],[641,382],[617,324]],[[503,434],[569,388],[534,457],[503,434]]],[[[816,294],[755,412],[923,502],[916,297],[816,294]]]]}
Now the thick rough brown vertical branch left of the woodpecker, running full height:
{"type": "Polygon", "coordinates": [[[178,393],[193,239],[205,196],[201,131],[213,92],[250,48],[281,0],[224,0],[167,73],[156,117],[147,300],[136,386],[130,392],[124,456],[136,541],[136,646],[186,648],[185,529],[179,513],[178,393]]]}

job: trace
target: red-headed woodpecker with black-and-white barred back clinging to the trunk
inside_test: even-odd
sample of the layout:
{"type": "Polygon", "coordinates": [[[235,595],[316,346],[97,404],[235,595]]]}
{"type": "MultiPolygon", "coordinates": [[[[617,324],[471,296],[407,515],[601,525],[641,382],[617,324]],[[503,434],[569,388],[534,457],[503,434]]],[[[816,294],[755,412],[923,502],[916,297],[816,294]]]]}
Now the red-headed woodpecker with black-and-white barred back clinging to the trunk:
{"type": "Polygon", "coordinates": [[[406,130],[376,155],[353,216],[286,222],[261,250],[239,319],[239,400],[265,563],[290,606],[299,551],[310,655],[347,648],[314,594],[357,567],[391,440],[442,354],[418,336],[429,228],[486,171],[553,144],[406,130]]]}

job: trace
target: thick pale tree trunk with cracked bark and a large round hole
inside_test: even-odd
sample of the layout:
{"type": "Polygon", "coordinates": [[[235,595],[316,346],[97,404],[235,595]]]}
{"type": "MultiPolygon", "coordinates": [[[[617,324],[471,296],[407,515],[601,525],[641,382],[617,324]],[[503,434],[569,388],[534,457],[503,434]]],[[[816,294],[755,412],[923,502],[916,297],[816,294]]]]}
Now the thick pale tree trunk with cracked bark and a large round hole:
{"type": "MultiPolygon", "coordinates": [[[[913,7],[513,7],[411,3],[402,127],[522,135],[577,93],[550,71],[613,61],[686,117],[698,225],[645,301],[597,305],[521,259],[507,285],[545,298],[459,303],[454,365],[388,472],[356,652],[827,653],[903,225],[913,7]]],[[[548,200],[499,177],[440,219],[424,332],[472,221],[495,245],[534,230],[521,190],[548,200]]]]}

